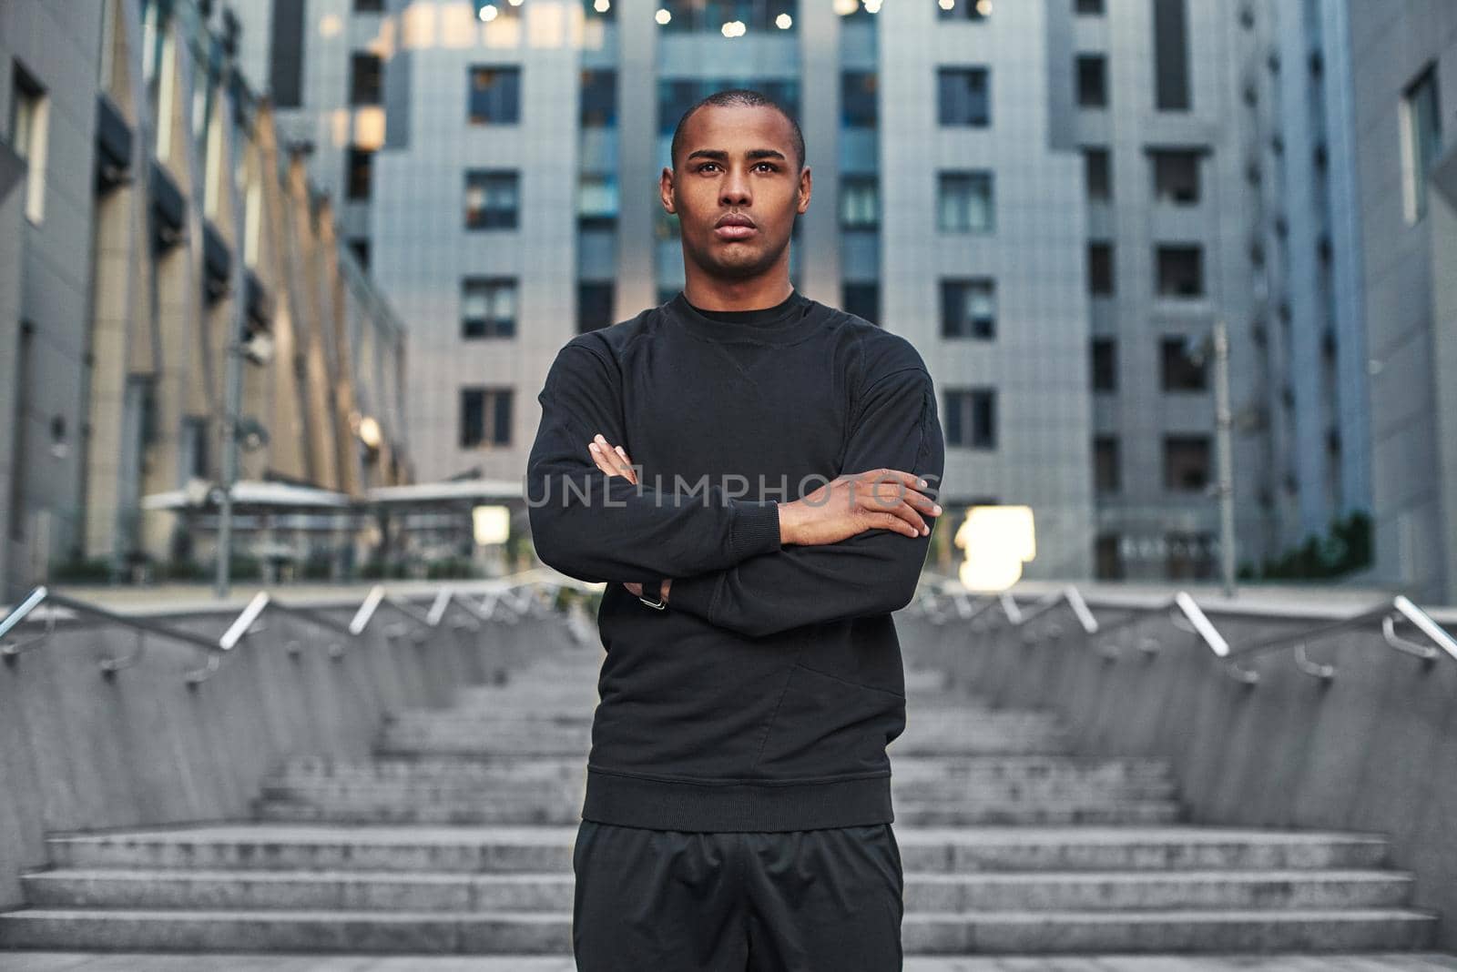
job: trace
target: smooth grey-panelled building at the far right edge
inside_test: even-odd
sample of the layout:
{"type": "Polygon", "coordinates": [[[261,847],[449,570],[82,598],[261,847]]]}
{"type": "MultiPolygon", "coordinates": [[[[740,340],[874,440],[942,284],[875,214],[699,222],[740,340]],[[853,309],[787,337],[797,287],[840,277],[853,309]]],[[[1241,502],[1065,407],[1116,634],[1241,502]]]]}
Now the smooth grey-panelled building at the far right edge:
{"type": "Polygon", "coordinates": [[[1339,6],[1375,570],[1412,597],[1457,604],[1457,4],[1339,6]]]}

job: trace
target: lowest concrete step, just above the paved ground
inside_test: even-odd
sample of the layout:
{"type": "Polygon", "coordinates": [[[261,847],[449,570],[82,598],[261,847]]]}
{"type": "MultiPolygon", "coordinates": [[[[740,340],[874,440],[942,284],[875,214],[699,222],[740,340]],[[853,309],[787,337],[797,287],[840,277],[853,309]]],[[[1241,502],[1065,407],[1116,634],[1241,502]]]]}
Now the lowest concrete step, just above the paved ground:
{"type": "MultiPolygon", "coordinates": [[[[1370,952],[1425,949],[1437,915],[1407,908],[908,912],[914,955],[1370,952]]],[[[0,946],[153,952],[557,955],[571,912],[138,911],[0,914],[0,946]]]]}

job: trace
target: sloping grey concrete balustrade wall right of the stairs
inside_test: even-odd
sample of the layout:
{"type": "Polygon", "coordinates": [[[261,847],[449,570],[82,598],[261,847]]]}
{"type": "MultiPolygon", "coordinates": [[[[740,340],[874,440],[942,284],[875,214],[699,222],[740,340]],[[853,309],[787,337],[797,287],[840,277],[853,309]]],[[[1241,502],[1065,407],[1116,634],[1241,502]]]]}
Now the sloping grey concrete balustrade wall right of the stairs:
{"type": "MultiPolygon", "coordinates": [[[[1014,594],[1021,611],[1049,588],[1029,591],[1014,594]]],[[[1457,952],[1457,659],[1399,650],[1377,620],[1305,642],[1307,668],[1335,669],[1323,680],[1292,648],[1238,649],[1314,632],[1380,597],[1345,605],[1298,594],[1199,597],[1234,661],[1257,672],[1257,684],[1244,684],[1163,608],[1170,594],[1084,589],[1101,624],[1138,618],[1107,634],[1087,634],[1067,602],[1016,626],[1000,604],[976,611],[982,598],[963,599],[970,621],[943,604],[940,617],[902,613],[898,627],[918,664],[943,668],[960,688],[998,707],[1056,713],[1074,752],[1166,761],[1189,822],[1387,837],[1389,866],[1415,876],[1410,907],[1444,915],[1434,946],[1457,952]]],[[[1457,626],[1457,611],[1428,614],[1447,632],[1457,626]]],[[[1394,633],[1409,648],[1432,645],[1409,624],[1394,633]]]]}

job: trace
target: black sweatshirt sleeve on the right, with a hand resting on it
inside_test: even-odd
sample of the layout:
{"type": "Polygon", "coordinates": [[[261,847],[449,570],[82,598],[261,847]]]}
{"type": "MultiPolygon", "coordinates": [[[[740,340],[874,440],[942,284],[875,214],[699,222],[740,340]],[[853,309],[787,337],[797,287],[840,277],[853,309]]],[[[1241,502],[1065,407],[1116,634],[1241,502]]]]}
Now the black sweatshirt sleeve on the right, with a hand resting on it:
{"type": "MultiPolygon", "coordinates": [[[[841,474],[898,469],[941,492],[946,447],[935,389],[924,367],[899,368],[860,396],[841,474]]],[[[943,503],[944,505],[944,503],[943,503]]],[[[944,514],[943,514],[944,515],[944,514]]],[[[928,517],[931,530],[937,518],[928,517]]],[[[915,597],[931,535],[876,528],[817,546],[788,546],[689,578],[675,578],[669,610],[763,637],[803,624],[889,614],[915,597]]]]}

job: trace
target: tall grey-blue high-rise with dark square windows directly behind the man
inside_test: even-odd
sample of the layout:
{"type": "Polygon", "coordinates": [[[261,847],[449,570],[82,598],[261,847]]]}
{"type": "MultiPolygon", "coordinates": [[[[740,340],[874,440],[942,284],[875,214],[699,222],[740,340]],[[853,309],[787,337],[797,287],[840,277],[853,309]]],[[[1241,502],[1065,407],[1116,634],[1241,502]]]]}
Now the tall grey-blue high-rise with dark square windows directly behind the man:
{"type": "MultiPolygon", "coordinates": [[[[271,41],[246,49],[281,125],[315,147],[344,236],[415,338],[423,477],[519,477],[561,343],[682,285],[657,198],[679,116],[755,87],[798,119],[814,175],[794,284],[905,335],[932,371],[946,521],[1027,503],[1026,576],[1157,581],[1212,579],[1221,556],[1217,322],[1238,565],[1257,573],[1383,502],[1371,450],[1389,432],[1368,422],[1365,346],[1367,317],[1386,314],[1367,291],[1383,250],[1358,205],[1358,179],[1375,176],[1348,7],[272,0],[240,13],[271,41]]],[[[1441,99],[1405,83],[1403,118],[1431,115],[1441,99]]],[[[1435,144],[1423,131],[1407,138],[1419,153],[1435,144]]],[[[1413,169],[1391,166],[1390,185],[1413,169]]],[[[1429,303],[1419,282],[1409,292],[1429,303]]],[[[1434,515],[1402,535],[1437,537],[1434,515]]]]}

